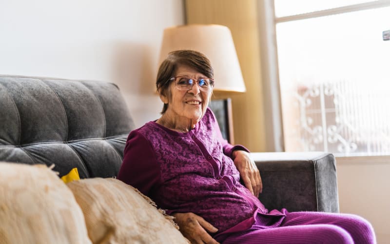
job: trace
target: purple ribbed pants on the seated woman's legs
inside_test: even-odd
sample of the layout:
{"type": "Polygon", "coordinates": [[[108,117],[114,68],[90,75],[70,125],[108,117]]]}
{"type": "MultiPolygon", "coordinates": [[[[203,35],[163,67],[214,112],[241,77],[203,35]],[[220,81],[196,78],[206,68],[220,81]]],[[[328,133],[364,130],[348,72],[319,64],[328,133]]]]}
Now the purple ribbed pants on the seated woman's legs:
{"type": "Polygon", "coordinates": [[[222,244],[373,244],[371,224],[360,216],[324,212],[287,212],[277,223],[257,214],[252,227],[217,239],[222,244]],[[224,240],[222,240],[224,239],[224,240]]]}

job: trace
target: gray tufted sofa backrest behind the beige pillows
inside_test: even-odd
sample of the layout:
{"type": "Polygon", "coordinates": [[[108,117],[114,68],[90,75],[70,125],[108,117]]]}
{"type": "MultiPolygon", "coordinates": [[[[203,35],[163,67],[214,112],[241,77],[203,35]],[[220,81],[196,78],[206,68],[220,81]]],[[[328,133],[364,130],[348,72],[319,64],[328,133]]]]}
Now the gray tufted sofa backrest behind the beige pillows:
{"type": "Polygon", "coordinates": [[[113,83],[0,75],[0,161],[113,177],[132,129],[113,83]]]}

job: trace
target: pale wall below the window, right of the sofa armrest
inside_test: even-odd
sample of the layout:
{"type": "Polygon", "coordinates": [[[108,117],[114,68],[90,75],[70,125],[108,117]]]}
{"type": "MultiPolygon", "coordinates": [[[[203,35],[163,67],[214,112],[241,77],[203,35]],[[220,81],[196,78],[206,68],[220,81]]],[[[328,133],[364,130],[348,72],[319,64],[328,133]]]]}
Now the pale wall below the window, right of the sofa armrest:
{"type": "Polygon", "coordinates": [[[336,158],[341,213],[366,218],[378,244],[390,244],[390,157],[336,158]]]}

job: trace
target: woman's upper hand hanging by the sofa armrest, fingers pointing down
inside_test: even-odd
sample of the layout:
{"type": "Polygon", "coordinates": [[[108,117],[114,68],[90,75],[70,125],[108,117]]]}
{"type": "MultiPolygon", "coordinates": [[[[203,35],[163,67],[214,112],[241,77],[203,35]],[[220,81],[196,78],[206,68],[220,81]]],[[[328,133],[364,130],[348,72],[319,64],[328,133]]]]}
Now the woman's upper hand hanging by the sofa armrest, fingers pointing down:
{"type": "Polygon", "coordinates": [[[240,172],[240,177],[254,196],[258,197],[263,191],[260,172],[251,155],[242,150],[233,151],[234,165],[240,172]]]}

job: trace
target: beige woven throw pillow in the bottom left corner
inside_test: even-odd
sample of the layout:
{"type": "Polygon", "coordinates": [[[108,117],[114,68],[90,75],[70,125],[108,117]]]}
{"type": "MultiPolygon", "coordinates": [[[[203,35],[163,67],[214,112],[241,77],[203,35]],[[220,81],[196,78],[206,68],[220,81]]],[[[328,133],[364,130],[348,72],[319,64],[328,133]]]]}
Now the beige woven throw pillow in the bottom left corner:
{"type": "Polygon", "coordinates": [[[90,244],[84,216],[46,165],[0,162],[1,244],[90,244]]]}

